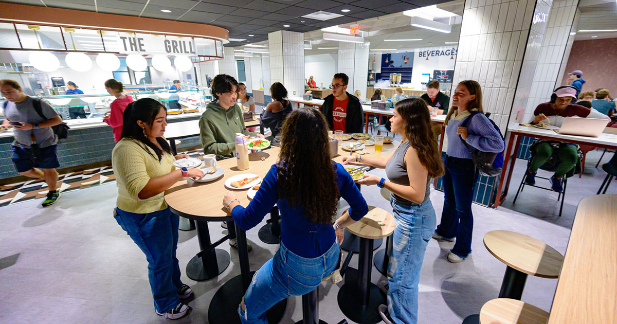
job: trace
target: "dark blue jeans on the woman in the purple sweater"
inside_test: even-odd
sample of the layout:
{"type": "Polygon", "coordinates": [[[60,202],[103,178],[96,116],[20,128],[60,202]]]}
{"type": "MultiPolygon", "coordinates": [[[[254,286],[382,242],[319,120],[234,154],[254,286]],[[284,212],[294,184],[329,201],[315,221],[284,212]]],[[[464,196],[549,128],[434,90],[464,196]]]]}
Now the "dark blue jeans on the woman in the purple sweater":
{"type": "Polygon", "coordinates": [[[452,253],[467,257],[471,253],[473,214],[471,202],[478,174],[471,159],[445,157],[444,209],[441,223],[435,231],[444,238],[456,238],[452,253]]]}

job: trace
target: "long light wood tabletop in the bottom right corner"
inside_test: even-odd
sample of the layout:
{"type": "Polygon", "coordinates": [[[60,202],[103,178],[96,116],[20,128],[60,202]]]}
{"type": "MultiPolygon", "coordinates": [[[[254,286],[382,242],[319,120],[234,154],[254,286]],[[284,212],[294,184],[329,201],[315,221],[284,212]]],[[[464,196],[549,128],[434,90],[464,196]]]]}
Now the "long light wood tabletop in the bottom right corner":
{"type": "Polygon", "coordinates": [[[579,202],[549,324],[617,323],[617,194],[579,202]]]}

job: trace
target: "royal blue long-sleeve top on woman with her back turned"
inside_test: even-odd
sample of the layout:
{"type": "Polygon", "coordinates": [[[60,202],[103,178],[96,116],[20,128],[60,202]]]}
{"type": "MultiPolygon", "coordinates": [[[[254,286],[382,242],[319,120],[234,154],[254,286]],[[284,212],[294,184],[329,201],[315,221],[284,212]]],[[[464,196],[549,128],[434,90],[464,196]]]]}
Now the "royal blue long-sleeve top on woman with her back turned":
{"type": "MultiPolygon", "coordinates": [[[[349,203],[349,216],[360,220],[368,212],[366,201],[354,180],[345,168],[336,162],[336,184],[341,197],[349,203]]],[[[287,201],[279,199],[276,186],[278,167],[272,165],[263,178],[255,197],[246,208],[236,206],[231,210],[234,222],[242,230],[250,230],[270,212],[276,204],[281,214],[281,241],[289,251],[300,257],[315,258],[323,255],[334,244],[334,228],[332,224],[315,224],[304,217],[304,208],[289,206],[287,201]]]]}

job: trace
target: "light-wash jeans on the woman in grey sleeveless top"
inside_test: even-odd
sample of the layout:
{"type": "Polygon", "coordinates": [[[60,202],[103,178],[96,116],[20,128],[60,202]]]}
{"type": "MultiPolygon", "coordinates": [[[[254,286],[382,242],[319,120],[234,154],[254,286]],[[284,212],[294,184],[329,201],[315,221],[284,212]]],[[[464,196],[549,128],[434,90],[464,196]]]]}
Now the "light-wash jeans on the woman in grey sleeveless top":
{"type": "Polygon", "coordinates": [[[394,237],[387,268],[387,309],[394,323],[418,323],[418,283],[424,251],[437,217],[431,199],[404,206],[390,199],[394,212],[394,237]]]}

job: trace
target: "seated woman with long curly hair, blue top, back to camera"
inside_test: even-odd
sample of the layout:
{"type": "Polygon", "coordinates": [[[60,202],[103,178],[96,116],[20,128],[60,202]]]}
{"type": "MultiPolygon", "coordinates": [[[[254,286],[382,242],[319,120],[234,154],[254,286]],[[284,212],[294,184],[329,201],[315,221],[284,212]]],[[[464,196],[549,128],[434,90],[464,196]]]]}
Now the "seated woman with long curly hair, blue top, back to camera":
{"type": "Polygon", "coordinates": [[[281,129],[279,161],[249,206],[240,206],[231,192],[223,199],[245,231],[259,224],[275,204],[281,213],[281,247],[255,273],[238,307],[242,323],[267,324],[270,307],[317,288],[337,267],[343,229],[368,212],[349,173],[330,160],[327,130],[318,110],[294,110],[281,129]],[[339,195],[350,208],[333,224],[339,195]]]}

